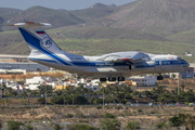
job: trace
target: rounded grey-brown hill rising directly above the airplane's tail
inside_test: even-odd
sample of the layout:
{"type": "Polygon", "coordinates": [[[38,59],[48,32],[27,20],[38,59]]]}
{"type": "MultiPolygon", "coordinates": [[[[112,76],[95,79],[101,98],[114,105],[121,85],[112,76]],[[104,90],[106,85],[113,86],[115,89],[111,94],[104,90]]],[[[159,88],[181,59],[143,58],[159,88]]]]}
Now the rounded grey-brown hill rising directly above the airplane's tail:
{"type": "Polygon", "coordinates": [[[43,6],[29,8],[15,17],[11,18],[11,23],[31,21],[51,23],[54,27],[70,26],[83,23],[83,21],[74,16],[69,12],[61,12],[58,10],[43,6]]]}

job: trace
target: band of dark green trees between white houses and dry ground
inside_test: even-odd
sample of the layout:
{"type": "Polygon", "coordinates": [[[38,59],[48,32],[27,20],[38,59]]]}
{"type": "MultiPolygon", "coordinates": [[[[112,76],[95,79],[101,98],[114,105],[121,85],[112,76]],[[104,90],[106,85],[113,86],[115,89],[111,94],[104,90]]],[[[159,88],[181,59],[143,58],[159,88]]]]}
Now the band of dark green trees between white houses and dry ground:
{"type": "MultiPolygon", "coordinates": [[[[49,104],[58,104],[58,105],[103,105],[103,91],[106,98],[104,98],[105,104],[113,104],[113,103],[121,103],[127,104],[128,101],[136,102],[138,99],[152,101],[153,103],[161,103],[161,104],[176,104],[176,103],[193,103],[195,102],[195,95],[192,90],[184,91],[185,86],[181,84],[180,95],[178,95],[178,90],[169,91],[167,87],[159,86],[153,88],[151,91],[133,91],[129,86],[107,86],[106,88],[102,88],[101,90],[94,92],[91,89],[83,88],[82,86],[76,89],[64,89],[57,90],[53,92],[51,87],[47,89],[47,95],[52,95],[50,100],[48,100],[49,104]],[[49,89],[50,88],[50,89],[49,89]],[[82,94],[80,94],[82,93],[82,94]],[[84,95],[88,95],[84,96],[84,95]],[[89,95],[92,95],[89,98],[89,95]],[[99,95],[99,96],[96,96],[99,95]]],[[[24,100],[20,100],[20,103],[28,103],[27,102],[27,93],[30,95],[39,95],[44,93],[46,88],[38,87],[38,90],[26,90],[21,94],[14,93],[11,88],[4,89],[2,92],[4,95],[9,96],[23,96],[24,100]]],[[[2,100],[0,101],[1,104],[10,103],[11,100],[2,100]]],[[[38,104],[44,104],[46,98],[39,98],[37,101],[38,104]]],[[[98,109],[101,109],[102,106],[96,106],[98,109]]],[[[106,107],[108,108],[108,107],[106,107]]],[[[116,109],[121,109],[122,106],[115,106],[116,109]]],[[[142,112],[142,109],[136,109],[138,112],[142,112]]]]}

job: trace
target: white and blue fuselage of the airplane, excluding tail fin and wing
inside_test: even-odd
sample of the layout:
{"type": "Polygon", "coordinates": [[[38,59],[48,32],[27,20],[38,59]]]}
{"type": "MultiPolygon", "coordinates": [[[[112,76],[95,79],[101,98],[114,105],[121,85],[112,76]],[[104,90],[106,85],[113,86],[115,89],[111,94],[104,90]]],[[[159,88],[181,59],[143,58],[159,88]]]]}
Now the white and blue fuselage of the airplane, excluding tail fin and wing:
{"type": "MultiPolygon", "coordinates": [[[[110,53],[105,55],[120,55],[127,54],[129,52],[118,52],[110,53]]],[[[178,60],[177,55],[154,55],[147,54],[151,60],[140,60],[136,63],[127,63],[125,61],[121,62],[105,62],[101,61],[101,56],[81,56],[81,55],[67,55],[66,61],[68,60],[68,65],[58,64],[51,61],[39,61],[34,60],[30,56],[29,60],[34,62],[38,62],[40,64],[66,70],[69,73],[76,73],[79,75],[92,76],[92,77],[119,77],[119,76],[131,76],[131,75],[140,75],[140,74],[162,74],[162,73],[181,73],[188,67],[188,63],[183,60],[178,60]],[[131,66],[131,69],[130,67],[131,66]]],[[[40,56],[40,55],[39,55],[40,56]]],[[[58,55],[63,57],[64,55],[58,55]]],[[[41,58],[41,57],[40,57],[41,58]]],[[[46,60],[46,57],[43,57],[46,60]]]]}

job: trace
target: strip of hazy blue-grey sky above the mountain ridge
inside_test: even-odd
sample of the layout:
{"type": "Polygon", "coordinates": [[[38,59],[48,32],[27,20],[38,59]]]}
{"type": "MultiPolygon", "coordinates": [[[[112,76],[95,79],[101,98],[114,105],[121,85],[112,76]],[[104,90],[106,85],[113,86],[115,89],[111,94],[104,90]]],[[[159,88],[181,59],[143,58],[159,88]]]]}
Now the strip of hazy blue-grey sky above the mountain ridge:
{"type": "Polygon", "coordinates": [[[80,10],[94,3],[121,5],[134,0],[0,0],[0,8],[13,8],[26,10],[34,5],[41,5],[51,9],[80,10]]]}

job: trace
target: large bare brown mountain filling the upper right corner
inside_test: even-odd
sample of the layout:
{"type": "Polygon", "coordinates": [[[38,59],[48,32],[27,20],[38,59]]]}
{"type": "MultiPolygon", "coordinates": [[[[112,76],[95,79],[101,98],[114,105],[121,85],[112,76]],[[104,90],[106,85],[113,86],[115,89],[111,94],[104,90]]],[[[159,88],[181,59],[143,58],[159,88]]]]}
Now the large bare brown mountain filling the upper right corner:
{"type": "Polygon", "coordinates": [[[168,36],[195,27],[195,1],[136,0],[107,18],[112,27],[168,36]]]}

